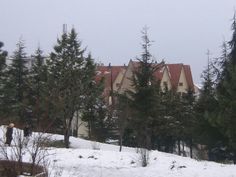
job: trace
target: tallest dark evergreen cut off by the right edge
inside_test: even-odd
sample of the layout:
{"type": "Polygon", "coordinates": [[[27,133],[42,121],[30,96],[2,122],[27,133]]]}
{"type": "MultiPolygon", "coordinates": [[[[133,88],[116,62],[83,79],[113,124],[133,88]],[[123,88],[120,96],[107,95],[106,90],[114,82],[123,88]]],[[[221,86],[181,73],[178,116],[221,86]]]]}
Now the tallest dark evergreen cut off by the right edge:
{"type": "Polygon", "coordinates": [[[219,102],[218,127],[229,140],[236,163],[236,18],[232,24],[233,36],[229,42],[230,53],[224,64],[217,87],[219,102]]]}

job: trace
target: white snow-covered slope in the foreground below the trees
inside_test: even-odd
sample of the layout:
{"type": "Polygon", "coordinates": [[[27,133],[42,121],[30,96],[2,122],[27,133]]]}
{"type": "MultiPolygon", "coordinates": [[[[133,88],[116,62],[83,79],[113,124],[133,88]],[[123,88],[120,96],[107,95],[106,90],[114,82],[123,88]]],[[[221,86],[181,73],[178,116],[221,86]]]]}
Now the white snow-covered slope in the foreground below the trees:
{"type": "MultiPolygon", "coordinates": [[[[2,129],[3,127],[1,127],[2,129]]],[[[0,130],[0,137],[4,133],[0,130]]],[[[61,135],[52,139],[62,140],[61,135]]],[[[135,148],[123,148],[70,138],[71,148],[50,148],[50,177],[236,177],[236,166],[151,151],[149,164],[141,167],[135,148]]],[[[11,148],[11,147],[10,147],[11,148]]]]}

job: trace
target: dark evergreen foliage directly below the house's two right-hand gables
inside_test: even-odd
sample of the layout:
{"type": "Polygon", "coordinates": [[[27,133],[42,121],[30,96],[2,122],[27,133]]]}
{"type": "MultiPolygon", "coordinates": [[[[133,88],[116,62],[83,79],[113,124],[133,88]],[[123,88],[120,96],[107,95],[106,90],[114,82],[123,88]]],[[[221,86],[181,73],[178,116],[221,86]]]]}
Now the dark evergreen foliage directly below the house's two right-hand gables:
{"type": "Polygon", "coordinates": [[[192,144],[192,129],[194,124],[194,103],[193,91],[177,93],[175,90],[163,90],[161,96],[162,119],[159,126],[159,136],[156,146],[159,150],[173,152],[175,145],[178,145],[180,152],[180,141],[185,144],[192,144]]]}

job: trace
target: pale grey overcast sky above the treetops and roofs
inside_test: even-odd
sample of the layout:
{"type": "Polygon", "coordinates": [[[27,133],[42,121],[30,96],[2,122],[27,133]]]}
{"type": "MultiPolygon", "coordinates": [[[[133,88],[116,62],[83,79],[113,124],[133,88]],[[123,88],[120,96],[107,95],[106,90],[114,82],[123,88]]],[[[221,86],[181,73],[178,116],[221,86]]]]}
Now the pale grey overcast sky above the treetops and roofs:
{"type": "Polygon", "coordinates": [[[147,25],[155,58],[189,64],[200,83],[207,49],[217,57],[231,39],[235,8],[235,0],[0,0],[0,41],[10,54],[21,36],[28,54],[39,43],[48,53],[65,23],[96,61],[123,65],[140,55],[147,25]]]}

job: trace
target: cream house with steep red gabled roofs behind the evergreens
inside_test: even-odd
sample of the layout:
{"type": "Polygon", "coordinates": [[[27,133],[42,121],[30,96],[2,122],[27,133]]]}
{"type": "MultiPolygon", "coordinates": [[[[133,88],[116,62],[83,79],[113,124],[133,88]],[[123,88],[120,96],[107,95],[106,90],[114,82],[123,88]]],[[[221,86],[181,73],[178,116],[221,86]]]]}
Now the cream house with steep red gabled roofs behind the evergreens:
{"type": "MultiPolygon", "coordinates": [[[[112,104],[112,93],[124,93],[126,90],[132,90],[133,71],[138,67],[139,62],[129,61],[128,66],[98,66],[96,80],[104,77],[105,89],[104,97],[108,105],[112,104]]],[[[174,89],[179,93],[187,93],[192,90],[197,93],[191,68],[183,63],[177,64],[155,64],[158,69],[154,75],[160,81],[161,88],[174,89]]]]}

